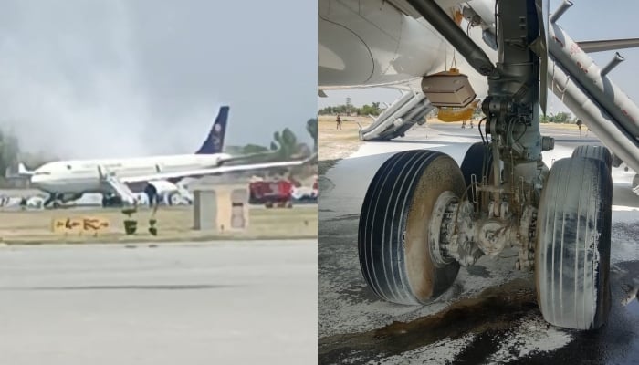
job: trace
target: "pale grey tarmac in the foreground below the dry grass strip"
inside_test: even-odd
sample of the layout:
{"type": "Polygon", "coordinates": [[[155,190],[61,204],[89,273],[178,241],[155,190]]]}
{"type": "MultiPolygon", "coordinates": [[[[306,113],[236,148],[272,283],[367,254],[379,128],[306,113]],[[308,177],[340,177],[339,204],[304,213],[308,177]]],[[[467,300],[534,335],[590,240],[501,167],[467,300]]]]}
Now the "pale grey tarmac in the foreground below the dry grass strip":
{"type": "Polygon", "coordinates": [[[0,247],[0,364],[317,361],[317,241],[132,247],[0,247]]]}

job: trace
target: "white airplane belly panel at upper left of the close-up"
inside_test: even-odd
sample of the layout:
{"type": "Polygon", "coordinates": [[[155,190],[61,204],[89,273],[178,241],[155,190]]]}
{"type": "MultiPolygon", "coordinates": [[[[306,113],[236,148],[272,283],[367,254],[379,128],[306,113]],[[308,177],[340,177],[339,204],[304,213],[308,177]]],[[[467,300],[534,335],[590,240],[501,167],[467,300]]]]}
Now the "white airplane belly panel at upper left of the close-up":
{"type": "MultiPolygon", "coordinates": [[[[438,3],[453,6],[460,2],[440,0],[438,3]]],[[[477,0],[474,3],[478,3],[477,0]]],[[[477,30],[471,30],[470,36],[477,39],[480,47],[488,49],[480,41],[477,30]]],[[[453,66],[455,52],[424,18],[415,19],[391,2],[318,2],[319,89],[419,81],[425,75],[453,66]]],[[[477,95],[483,96],[487,91],[486,78],[480,77],[458,53],[456,66],[468,75],[477,95]]]]}

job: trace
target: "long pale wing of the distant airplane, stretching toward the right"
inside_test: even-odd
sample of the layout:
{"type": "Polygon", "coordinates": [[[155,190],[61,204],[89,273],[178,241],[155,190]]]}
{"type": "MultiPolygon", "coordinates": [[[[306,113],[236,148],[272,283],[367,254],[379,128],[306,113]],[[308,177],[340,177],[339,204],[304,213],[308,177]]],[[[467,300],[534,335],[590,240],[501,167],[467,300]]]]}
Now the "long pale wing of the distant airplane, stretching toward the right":
{"type": "Polygon", "coordinates": [[[168,180],[179,179],[187,176],[204,176],[204,175],[216,175],[228,172],[246,172],[254,170],[266,170],[278,167],[295,167],[308,164],[309,162],[317,159],[317,153],[313,154],[305,160],[299,161],[284,161],[284,162],[263,162],[263,163],[251,163],[244,165],[231,165],[231,166],[215,166],[206,169],[187,170],[180,172],[158,172],[149,175],[140,175],[132,177],[118,178],[121,183],[141,183],[152,180],[168,180]]]}

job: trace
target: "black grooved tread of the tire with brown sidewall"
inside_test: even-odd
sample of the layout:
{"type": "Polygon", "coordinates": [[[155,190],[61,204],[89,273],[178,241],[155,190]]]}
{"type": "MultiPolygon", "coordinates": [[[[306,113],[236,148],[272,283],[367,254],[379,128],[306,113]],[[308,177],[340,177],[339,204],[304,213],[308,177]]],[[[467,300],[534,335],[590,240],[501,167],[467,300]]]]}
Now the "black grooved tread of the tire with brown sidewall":
{"type": "MultiPolygon", "coordinates": [[[[404,238],[414,189],[437,159],[452,161],[437,151],[394,154],[377,171],[364,198],[358,234],[361,273],[372,291],[384,300],[406,305],[427,303],[452,285],[459,270],[456,262],[434,269],[432,293],[424,297],[411,287],[406,268],[404,238]]],[[[462,184],[459,172],[457,193],[463,189],[462,184]]]]}

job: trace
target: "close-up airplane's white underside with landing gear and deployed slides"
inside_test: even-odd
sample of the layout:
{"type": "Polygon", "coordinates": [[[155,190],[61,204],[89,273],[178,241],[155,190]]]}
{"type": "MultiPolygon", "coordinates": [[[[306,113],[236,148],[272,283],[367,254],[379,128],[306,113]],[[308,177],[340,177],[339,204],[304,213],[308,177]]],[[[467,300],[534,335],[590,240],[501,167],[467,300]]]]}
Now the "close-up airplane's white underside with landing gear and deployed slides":
{"type": "Polygon", "coordinates": [[[477,98],[486,116],[483,141],[461,166],[440,151],[403,151],[372,178],[358,248],[362,276],[378,297],[429,303],[460,266],[512,246],[516,267],[535,271],[548,322],[586,330],[606,322],[608,149],[639,172],[639,107],[610,77],[623,57],[599,68],[586,52],[639,42],[575,42],[558,25],[571,5],[564,0],[550,16],[548,0],[319,0],[319,96],[406,90],[361,130],[362,140],[402,136],[428,111],[464,110],[477,98]],[[580,146],[549,169],[541,151],[554,140],[539,133],[547,88],[606,147],[580,146]]]}

